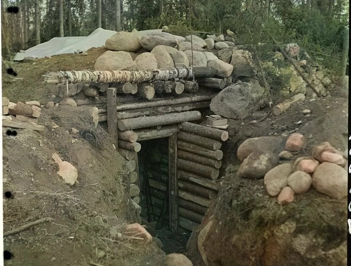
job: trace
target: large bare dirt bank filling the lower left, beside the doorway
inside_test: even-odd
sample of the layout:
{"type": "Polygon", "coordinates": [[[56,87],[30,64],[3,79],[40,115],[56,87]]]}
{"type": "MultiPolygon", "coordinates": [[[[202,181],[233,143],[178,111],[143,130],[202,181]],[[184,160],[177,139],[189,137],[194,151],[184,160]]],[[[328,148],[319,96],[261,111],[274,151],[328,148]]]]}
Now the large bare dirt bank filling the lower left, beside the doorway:
{"type": "MultiPolygon", "coordinates": [[[[164,253],[153,243],[125,238],[123,225],[135,222],[125,160],[113,148],[92,146],[64,125],[52,128],[45,117],[43,132],[16,129],[8,137],[3,128],[4,231],[41,218],[35,225],[4,238],[13,254],[5,265],[160,265],[164,253]],[[66,185],[51,155],[78,169],[79,184],[66,185]],[[114,238],[111,230],[120,232],[114,238]]],[[[103,136],[106,138],[106,135],[103,136]]]]}

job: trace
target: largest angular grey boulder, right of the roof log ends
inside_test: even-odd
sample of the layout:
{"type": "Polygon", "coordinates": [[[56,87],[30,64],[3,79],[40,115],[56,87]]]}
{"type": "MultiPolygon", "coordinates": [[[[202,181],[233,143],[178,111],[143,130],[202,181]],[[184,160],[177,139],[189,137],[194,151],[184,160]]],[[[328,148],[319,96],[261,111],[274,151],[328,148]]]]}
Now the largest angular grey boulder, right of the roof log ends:
{"type": "Polygon", "coordinates": [[[263,106],[268,94],[257,80],[238,82],[220,91],[211,100],[210,109],[226,118],[246,118],[263,106]]]}

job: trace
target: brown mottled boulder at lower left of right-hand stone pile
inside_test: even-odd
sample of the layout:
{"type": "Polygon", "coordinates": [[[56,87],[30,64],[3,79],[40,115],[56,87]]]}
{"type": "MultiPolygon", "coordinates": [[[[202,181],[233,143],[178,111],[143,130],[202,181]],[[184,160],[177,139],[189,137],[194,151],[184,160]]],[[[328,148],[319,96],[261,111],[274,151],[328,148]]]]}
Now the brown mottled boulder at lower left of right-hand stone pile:
{"type": "Polygon", "coordinates": [[[254,151],[240,165],[238,176],[249,179],[263,178],[278,162],[278,157],[272,152],[254,151]]]}

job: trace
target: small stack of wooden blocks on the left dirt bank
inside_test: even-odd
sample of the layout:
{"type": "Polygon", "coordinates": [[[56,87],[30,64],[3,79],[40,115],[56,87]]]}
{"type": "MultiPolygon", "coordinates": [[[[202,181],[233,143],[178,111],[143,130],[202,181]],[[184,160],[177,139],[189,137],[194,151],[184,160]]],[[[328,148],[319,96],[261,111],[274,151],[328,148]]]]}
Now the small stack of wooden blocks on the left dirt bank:
{"type": "Polygon", "coordinates": [[[15,115],[17,121],[36,123],[41,113],[40,103],[38,101],[29,101],[26,104],[17,102],[13,108],[8,109],[8,113],[15,115]]]}

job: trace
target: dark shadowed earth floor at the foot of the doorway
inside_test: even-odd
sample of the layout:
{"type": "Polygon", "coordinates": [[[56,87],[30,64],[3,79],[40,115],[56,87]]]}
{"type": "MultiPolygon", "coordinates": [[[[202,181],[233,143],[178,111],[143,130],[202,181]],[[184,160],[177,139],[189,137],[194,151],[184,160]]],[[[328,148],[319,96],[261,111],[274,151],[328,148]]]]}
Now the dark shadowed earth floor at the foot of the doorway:
{"type": "Polygon", "coordinates": [[[163,247],[161,249],[166,253],[185,253],[186,243],[190,238],[191,232],[182,230],[171,232],[167,225],[164,225],[161,230],[155,230],[156,221],[148,222],[147,219],[143,217],[143,224],[146,225],[146,230],[153,236],[157,237],[163,247]]]}

